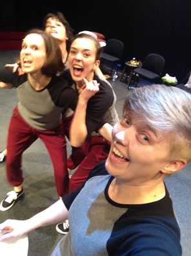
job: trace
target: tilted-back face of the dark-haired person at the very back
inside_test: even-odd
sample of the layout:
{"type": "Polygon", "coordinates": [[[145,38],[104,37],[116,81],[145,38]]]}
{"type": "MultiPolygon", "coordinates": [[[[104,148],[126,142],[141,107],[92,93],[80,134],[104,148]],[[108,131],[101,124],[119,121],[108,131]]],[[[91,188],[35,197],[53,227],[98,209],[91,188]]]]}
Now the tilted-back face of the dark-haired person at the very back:
{"type": "Polygon", "coordinates": [[[68,37],[66,35],[66,28],[59,21],[58,19],[55,19],[55,17],[49,17],[46,21],[45,25],[45,31],[47,34],[50,34],[53,36],[56,40],[59,41],[66,41],[68,40],[68,37]]]}

